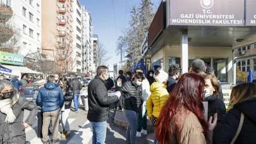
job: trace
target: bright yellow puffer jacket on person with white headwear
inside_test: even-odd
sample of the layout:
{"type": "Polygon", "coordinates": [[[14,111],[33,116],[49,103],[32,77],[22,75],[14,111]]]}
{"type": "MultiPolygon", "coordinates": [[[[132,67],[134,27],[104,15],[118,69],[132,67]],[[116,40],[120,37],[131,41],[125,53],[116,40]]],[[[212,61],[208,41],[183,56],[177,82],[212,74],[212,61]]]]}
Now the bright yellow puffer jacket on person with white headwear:
{"type": "Polygon", "coordinates": [[[152,116],[159,117],[162,105],[169,98],[169,93],[166,90],[166,85],[160,82],[154,82],[150,86],[151,95],[147,99],[147,116],[151,119],[152,116]]]}

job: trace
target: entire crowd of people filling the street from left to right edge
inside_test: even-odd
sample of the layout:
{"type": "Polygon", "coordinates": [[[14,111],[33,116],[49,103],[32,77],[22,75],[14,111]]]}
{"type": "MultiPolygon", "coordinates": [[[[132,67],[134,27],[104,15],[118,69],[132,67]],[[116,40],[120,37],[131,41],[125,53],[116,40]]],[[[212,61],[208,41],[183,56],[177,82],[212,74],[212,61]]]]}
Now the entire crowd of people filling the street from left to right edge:
{"type": "MultiPolygon", "coordinates": [[[[119,71],[116,81],[108,68],[99,66],[97,76],[88,84],[87,119],[92,125],[92,143],[106,140],[109,106],[115,105],[128,121],[126,143],[137,143],[147,135],[147,119],[154,126],[154,143],[256,143],[256,84],[241,83],[233,87],[229,111],[223,102],[221,85],[204,61],[195,59],[190,71],[181,75],[180,66],[170,66],[166,73],[155,66],[147,75],[141,68],[119,71]]],[[[41,79],[38,77],[37,79],[41,79]]],[[[39,88],[35,104],[20,96],[20,87],[28,78],[4,80],[0,75],[0,143],[25,143],[25,128],[38,119],[38,136],[42,143],[59,143],[70,136],[68,116],[80,107],[82,89],[78,77],[73,80],[47,77],[39,88]],[[24,110],[30,111],[23,122],[24,110]],[[49,135],[52,134],[51,140],[49,135]]]]}

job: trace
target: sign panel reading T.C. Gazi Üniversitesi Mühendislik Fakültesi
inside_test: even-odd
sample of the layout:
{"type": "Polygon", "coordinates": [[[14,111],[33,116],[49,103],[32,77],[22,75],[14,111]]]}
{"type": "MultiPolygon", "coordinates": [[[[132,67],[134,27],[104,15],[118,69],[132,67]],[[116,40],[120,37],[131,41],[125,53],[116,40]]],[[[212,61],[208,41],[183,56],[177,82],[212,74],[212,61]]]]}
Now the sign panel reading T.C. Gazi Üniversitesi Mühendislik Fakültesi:
{"type": "MultiPolygon", "coordinates": [[[[169,0],[170,25],[243,26],[241,0],[169,0]]],[[[251,0],[253,1],[253,0],[251,0]]],[[[255,6],[255,4],[253,5],[255,6]]]]}

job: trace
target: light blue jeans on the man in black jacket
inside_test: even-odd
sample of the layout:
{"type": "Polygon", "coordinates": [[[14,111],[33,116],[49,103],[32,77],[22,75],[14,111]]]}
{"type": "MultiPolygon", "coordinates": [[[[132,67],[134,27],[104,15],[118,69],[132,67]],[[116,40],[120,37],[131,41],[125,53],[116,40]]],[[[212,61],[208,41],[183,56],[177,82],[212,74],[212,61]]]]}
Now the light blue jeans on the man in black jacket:
{"type": "Polygon", "coordinates": [[[107,135],[107,121],[90,122],[92,124],[92,144],[104,144],[107,135]]]}

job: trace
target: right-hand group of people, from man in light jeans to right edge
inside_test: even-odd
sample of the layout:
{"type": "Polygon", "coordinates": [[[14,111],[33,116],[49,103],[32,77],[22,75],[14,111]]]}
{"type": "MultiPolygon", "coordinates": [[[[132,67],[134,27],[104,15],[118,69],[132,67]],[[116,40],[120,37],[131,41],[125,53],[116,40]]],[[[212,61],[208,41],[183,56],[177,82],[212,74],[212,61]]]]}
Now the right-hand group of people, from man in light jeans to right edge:
{"type": "Polygon", "coordinates": [[[108,68],[99,66],[88,85],[88,120],[92,143],[104,143],[109,105],[121,109],[128,121],[126,143],[147,135],[147,117],[154,126],[154,143],[256,143],[256,84],[233,87],[229,111],[223,102],[221,85],[214,70],[201,59],[192,62],[181,75],[178,64],[168,73],[155,66],[147,75],[136,68],[126,76],[122,70],[109,82],[108,68]],[[115,92],[107,91],[115,87],[115,92]]]}

